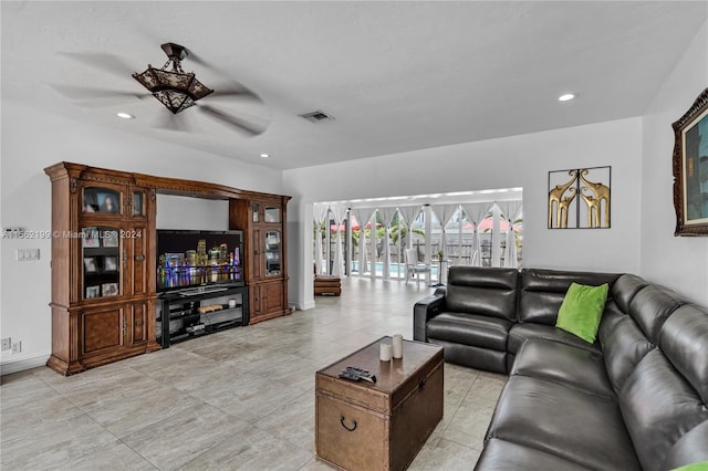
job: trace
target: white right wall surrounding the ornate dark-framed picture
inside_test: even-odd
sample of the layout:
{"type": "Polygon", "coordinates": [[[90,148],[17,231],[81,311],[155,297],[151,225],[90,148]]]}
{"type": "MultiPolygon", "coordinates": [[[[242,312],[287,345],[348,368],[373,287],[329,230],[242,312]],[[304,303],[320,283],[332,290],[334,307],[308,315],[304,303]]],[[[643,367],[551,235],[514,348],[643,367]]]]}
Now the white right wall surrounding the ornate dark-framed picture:
{"type": "Polygon", "coordinates": [[[671,123],[708,86],[708,22],[686,49],[644,116],[641,274],[708,306],[708,238],[674,237],[671,123]]]}

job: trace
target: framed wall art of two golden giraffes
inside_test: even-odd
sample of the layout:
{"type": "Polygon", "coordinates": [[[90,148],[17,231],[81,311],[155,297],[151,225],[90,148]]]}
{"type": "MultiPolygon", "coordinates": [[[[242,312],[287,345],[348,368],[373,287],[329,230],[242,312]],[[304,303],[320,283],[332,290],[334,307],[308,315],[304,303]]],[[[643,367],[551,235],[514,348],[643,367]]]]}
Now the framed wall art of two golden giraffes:
{"type": "Polygon", "coordinates": [[[549,229],[606,229],[611,167],[549,171],[549,229]]]}

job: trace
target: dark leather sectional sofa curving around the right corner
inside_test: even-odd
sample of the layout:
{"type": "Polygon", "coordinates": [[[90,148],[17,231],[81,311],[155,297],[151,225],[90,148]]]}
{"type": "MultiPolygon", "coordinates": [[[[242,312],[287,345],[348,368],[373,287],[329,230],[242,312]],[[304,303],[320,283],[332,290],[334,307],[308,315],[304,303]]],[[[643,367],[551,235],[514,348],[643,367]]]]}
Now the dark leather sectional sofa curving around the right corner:
{"type": "Polygon", "coordinates": [[[509,379],[477,470],[670,470],[708,461],[708,313],[633,274],[450,268],[414,338],[509,379]],[[597,341],[555,327],[571,283],[610,285],[597,341]]]}

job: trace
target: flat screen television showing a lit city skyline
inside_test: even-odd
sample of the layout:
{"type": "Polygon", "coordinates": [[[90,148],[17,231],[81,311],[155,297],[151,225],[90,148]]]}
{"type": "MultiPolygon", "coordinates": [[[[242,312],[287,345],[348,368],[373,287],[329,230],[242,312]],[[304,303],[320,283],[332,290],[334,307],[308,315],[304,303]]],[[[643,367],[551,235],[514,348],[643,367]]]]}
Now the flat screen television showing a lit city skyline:
{"type": "Polygon", "coordinates": [[[157,291],[243,285],[243,231],[157,230],[157,291]]]}

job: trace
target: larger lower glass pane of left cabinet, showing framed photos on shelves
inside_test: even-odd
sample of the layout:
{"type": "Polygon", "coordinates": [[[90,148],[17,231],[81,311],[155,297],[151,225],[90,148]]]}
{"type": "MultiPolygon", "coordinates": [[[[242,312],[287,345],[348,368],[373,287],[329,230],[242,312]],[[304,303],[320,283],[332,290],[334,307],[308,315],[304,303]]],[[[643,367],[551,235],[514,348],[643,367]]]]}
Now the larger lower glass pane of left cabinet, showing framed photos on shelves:
{"type": "Polygon", "coordinates": [[[83,254],[83,296],[117,296],[121,286],[121,230],[106,226],[81,231],[83,254]]]}

